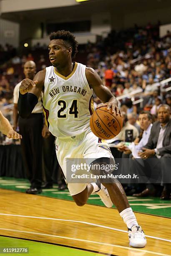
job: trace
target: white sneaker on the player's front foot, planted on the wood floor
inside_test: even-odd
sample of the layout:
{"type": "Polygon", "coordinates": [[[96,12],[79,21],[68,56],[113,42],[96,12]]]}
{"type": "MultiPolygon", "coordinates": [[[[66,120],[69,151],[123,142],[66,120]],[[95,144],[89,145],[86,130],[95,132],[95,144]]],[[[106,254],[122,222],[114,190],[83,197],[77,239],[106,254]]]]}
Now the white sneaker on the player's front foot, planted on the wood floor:
{"type": "Polygon", "coordinates": [[[146,245],[146,237],[141,226],[133,225],[128,228],[129,245],[136,248],[142,248],[146,245]]]}

